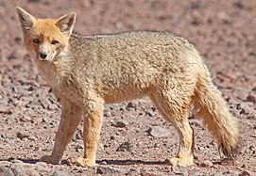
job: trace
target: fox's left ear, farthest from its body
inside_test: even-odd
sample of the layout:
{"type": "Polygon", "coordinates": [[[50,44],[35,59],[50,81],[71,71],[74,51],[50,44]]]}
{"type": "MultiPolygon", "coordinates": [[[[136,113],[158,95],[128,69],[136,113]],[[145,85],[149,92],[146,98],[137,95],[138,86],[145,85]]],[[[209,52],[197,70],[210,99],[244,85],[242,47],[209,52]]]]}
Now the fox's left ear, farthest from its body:
{"type": "Polygon", "coordinates": [[[26,10],[24,10],[23,8],[17,7],[16,10],[23,29],[25,31],[30,30],[33,24],[35,23],[36,18],[30,15],[28,12],[26,12],[26,10]]]}

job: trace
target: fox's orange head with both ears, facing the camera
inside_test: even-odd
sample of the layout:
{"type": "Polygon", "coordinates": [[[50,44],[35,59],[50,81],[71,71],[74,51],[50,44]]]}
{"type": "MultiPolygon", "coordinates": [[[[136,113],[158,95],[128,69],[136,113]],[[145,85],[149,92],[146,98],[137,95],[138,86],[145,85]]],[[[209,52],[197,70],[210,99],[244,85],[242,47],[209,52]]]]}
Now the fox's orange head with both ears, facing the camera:
{"type": "Polygon", "coordinates": [[[68,45],[76,22],[76,12],[59,19],[36,19],[23,8],[16,8],[28,51],[34,51],[36,61],[47,64],[53,61],[68,45]]]}

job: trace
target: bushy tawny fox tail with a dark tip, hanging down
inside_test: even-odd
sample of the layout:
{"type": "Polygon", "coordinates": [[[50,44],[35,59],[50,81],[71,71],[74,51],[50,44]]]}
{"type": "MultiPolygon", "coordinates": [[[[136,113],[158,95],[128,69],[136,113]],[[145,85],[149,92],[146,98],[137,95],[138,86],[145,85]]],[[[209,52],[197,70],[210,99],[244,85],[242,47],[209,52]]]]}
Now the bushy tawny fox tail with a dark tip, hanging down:
{"type": "Polygon", "coordinates": [[[236,120],[230,114],[221,92],[213,85],[206,67],[199,75],[196,85],[194,113],[212,133],[218,143],[219,152],[233,157],[238,147],[239,132],[236,120]]]}

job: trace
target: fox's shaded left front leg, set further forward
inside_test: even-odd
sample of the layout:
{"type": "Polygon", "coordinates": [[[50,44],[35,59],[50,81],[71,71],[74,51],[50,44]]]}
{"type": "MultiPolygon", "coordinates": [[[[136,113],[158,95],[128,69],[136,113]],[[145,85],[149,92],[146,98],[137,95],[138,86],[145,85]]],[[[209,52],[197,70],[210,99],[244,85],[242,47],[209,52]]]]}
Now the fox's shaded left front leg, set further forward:
{"type": "Polygon", "coordinates": [[[60,126],[56,135],[54,149],[50,156],[43,156],[40,161],[59,164],[67,144],[71,141],[81,120],[81,108],[72,104],[68,100],[61,99],[62,110],[60,117],[60,126]]]}

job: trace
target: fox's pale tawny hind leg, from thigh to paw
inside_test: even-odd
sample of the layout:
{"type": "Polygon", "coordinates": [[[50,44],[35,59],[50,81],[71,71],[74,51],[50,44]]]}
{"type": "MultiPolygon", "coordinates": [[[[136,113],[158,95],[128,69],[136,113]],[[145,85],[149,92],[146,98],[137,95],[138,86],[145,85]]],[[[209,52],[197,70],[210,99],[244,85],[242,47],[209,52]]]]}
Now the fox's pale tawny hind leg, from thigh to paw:
{"type": "Polygon", "coordinates": [[[174,124],[179,133],[179,152],[176,157],[171,158],[170,163],[186,167],[194,164],[194,134],[188,121],[190,100],[187,103],[179,98],[170,90],[160,90],[151,96],[163,118],[174,124]]]}

